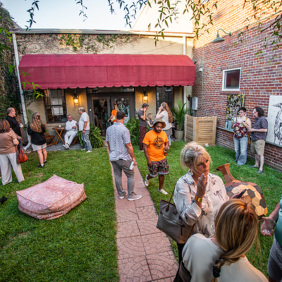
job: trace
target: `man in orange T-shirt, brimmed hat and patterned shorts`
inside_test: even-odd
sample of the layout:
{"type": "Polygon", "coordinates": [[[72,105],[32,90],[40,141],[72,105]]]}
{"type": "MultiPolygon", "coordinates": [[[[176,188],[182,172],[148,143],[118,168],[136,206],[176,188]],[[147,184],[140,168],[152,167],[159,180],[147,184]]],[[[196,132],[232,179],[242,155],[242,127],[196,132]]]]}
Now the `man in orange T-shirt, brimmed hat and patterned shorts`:
{"type": "Polygon", "coordinates": [[[148,187],[149,180],[159,174],[159,192],[167,195],[164,190],[164,176],[168,174],[168,163],[166,152],[168,151],[168,137],[162,128],[166,127],[161,118],[153,122],[153,130],[149,131],[143,140],[144,154],[147,159],[149,174],[145,178],[145,186],[148,187]]]}

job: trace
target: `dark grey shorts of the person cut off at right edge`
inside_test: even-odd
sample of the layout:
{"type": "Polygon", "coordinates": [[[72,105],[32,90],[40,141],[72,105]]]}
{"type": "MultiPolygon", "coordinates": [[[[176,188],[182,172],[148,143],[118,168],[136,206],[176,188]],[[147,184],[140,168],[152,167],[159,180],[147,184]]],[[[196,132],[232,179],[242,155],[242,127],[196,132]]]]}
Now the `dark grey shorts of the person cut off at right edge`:
{"type": "Polygon", "coordinates": [[[274,242],[269,253],[269,262],[267,264],[267,271],[269,276],[275,281],[281,281],[282,278],[282,247],[276,241],[274,242]]]}

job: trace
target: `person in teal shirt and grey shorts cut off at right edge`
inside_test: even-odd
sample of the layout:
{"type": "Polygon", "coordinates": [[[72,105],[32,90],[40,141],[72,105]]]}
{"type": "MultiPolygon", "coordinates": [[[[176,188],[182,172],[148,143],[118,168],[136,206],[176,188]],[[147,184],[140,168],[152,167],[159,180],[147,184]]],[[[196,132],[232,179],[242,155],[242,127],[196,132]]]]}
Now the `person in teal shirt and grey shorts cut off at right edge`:
{"type": "Polygon", "coordinates": [[[282,279],[282,195],[274,211],[269,214],[269,217],[263,217],[262,220],[261,233],[265,236],[274,234],[267,264],[269,282],[280,282],[282,279]]]}

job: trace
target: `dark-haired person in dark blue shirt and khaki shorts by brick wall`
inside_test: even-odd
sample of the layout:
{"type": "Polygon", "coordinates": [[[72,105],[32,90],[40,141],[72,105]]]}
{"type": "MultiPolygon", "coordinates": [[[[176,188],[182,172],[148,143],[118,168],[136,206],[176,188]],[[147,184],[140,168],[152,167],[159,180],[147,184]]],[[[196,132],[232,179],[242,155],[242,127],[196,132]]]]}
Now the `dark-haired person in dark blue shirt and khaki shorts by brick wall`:
{"type": "Polygon", "coordinates": [[[264,110],[261,107],[256,106],[252,110],[252,114],[255,116],[255,123],[252,125],[252,128],[248,128],[247,131],[251,133],[250,149],[251,153],[255,154],[255,165],[250,167],[259,167],[257,173],[262,173],[264,166],[264,146],[268,123],[267,119],[264,118],[264,110]]]}

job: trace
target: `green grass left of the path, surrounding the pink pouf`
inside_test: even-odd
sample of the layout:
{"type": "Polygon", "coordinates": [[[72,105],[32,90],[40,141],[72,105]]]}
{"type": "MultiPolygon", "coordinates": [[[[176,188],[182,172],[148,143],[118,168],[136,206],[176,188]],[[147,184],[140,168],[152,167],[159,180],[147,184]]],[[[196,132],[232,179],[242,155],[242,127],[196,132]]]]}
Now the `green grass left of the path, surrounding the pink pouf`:
{"type": "Polygon", "coordinates": [[[1,187],[0,281],[119,281],[114,186],[105,148],[36,153],[22,164],[25,181],[1,187]],[[106,161],[105,161],[106,160],[106,161]],[[59,219],[38,220],[18,210],[16,190],[56,174],[85,184],[87,199],[59,219]]]}

